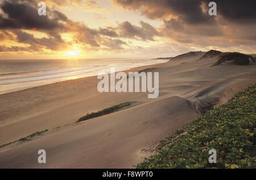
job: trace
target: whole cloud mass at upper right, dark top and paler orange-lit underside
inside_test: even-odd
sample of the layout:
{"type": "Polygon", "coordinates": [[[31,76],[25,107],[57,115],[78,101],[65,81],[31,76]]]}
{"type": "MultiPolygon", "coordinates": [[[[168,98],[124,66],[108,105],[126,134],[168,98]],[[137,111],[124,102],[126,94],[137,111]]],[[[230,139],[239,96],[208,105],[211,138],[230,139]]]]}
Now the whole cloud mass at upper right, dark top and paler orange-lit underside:
{"type": "Polygon", "coordinates": [[[197,47],[256,47],[256,1],[225,0],[217,3],[217,16],[209,16],[203,0],[112,0],[124,9],[140,11],[150,19],[163,20],[160,34],[197,47]]]}

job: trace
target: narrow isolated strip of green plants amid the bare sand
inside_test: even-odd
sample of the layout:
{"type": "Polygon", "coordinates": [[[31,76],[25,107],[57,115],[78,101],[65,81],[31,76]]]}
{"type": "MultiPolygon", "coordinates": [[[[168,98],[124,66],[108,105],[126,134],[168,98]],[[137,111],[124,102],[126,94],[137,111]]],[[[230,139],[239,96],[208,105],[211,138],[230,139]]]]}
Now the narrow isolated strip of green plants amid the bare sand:
{"type": "Polygon", "coordinates": [[[97,112],[91,112],[90,114],[88,113],[87,115],[83,116],[77,122],[82,122],[84,120],[92,119],[92,118],[97,118],[99,116],[104,116],[107,114],[110,114],[112,112],[118,111],[123,107],[130,106],[131,104],[137,103],[137,101],[129,101],[129,102],[124,102],[121,104],[117,104],[112,107],[104,108],[103,110],[97,111],[97,112]]]}

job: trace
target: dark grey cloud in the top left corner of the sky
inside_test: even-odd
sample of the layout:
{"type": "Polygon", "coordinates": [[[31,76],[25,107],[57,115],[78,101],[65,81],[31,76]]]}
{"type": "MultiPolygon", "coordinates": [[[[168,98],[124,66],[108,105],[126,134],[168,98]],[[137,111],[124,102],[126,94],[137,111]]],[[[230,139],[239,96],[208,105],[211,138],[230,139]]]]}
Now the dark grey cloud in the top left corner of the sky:
{"type": "Polygon", "coordinates": [[[61,21],[67,20],[64,14],[56,10],[47,10],[49,15],[39,16],[36,3],[32,6],[31,3],[3,1],[0,8],[4,13],[0,15],[0,29],[61,30],[64,29],[61,21]]]}

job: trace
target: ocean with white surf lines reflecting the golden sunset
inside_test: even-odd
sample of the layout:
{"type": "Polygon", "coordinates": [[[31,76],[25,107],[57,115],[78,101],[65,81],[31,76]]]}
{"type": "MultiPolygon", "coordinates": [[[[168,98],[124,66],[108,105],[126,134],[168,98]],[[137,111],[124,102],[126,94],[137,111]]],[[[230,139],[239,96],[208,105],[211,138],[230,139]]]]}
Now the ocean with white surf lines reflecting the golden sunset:
{"type": "Polygon", "coordinates": [[[85,60],[0,60],[0,94],[70,79],[96,76],[100,72],[123,71],[168,60],[85,59],[85,60]]]}

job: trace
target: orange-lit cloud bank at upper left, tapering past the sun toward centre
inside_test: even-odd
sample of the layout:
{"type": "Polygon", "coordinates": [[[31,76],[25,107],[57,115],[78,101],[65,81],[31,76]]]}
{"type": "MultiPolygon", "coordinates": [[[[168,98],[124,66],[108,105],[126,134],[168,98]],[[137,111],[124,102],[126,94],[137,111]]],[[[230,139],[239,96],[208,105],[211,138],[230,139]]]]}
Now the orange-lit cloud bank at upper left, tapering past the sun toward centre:
{"type": "MultiPolygon", "coordinates": [[[[79,1],[76,2],[79,3],[79,1]]],[[[55,1],[55,3],[65,5],[71,1],[55,1]]],[[[118,33],[112,27],[91,29],[85,24],[73,22],[60,11],[50,8],[47,9],[47,16],[39,16],[35,1],[24,1],[23,3],[4,1],[0,8],[4,13],[0,14],[0,41],[15,40],[17,43],[34,47],[31,48],[31,51],[42,51],[42,48],[65,51],[72,48],[73,43],[80,43],[83,47],[89,45],[94,48],[100,48],[102,45],[108,49],[122,49],[121,45],[126,44],[125,41],[119,39],[101,37],[101,35],[118,37],[118,33]],[[36,30],[47,34],[47,36],[36,38],[24,30],[36,30]],[[70,42],[63,40],[60,35],[62,33],[70,33],[73,40],[70,42]]],[[[27,48],[5,46],[1,47],[1,51],[27,51],[27,48]]]]}

